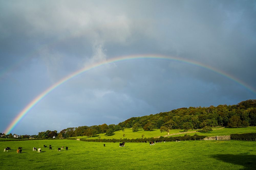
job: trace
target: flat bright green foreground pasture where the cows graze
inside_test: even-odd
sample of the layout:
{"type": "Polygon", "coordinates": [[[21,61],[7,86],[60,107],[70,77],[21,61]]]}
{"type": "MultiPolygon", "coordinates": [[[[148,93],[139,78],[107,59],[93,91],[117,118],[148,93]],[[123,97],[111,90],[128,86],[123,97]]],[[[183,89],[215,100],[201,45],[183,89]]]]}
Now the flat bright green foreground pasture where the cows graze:
{"type": "Polygon", "coordinates": [[[1,169],[256,169],[255,141],[105,144],[66,139],[2,141],[0,165],[1,169]],[[68,146],[68,151],[58,152],[61,146],[68,146]],[[3,152],[6,147],[12,150],[3,152]],[[18,147],[23,147],[23,153],[16,153],[18,147]],[[33,147],[42,152],[32,151],[33,147]]]}

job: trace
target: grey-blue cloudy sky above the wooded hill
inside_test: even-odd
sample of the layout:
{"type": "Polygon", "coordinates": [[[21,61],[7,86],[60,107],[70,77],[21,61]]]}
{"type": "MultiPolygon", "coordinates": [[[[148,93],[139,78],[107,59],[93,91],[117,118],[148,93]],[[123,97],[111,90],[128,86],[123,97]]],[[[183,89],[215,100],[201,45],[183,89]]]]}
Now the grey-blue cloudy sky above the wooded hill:
{"type": "Polygon", "coordinates": [[[255,1],[1,0],[0,132],[46,89],[102,62],[54,88],[10,133],[256,99],[255,16],[255,1]],[[121,56],[133,59],[108,62],[121,56]]]}

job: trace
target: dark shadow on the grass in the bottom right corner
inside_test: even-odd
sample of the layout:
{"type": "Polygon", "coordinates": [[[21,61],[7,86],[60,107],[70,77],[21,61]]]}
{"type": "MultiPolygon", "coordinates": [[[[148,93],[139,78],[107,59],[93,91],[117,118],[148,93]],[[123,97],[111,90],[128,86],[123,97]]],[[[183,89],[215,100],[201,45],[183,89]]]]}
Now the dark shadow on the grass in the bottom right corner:
{"type": "Polygon", "coordinates": [[[232,163],[234,165],[242,165],[244,166],[243,169],[256,169],[256,163],[255,163],[256,155],[216,154],[216,155],[212,155],[211,157],[223,162],[232,163]]]}

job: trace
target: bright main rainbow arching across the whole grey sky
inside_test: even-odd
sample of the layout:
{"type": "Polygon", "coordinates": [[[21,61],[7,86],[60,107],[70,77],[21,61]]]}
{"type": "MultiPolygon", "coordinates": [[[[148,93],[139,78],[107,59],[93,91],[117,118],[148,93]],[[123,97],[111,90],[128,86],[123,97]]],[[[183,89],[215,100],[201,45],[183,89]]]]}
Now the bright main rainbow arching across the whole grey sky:
{"type": "Polygon", "coordinates": [[[124,61],[124,60],[134,60],[134,59],[166,59],[166,60],[173,60],[173,61],[180,61],[180,62],[184,62],[184,63],[188,63],[188,64],[192,64],[195,66],[199,66],[208,70],[211,70],[213,72],[216,72],[218,74],[221,74],[224,77],[227,77],[228,79],[242,85],[243,87],[247,88],[248,90],[250,90],[251,92],[253,92],[254,94],[256,94],[255,90],[250,87],[249,85],[245,84],[244,82],[236,79],[235,77],[217,70],[213,67],[207,66],[205,64],[196,62],[196,61],[192,61],[192,60],[187,60],[187,59],[183,59],[183,58],[177,58],[177,57],[170,57],[170,56],[163,56],[163,55],[153,55],[153,54],[149,54],[149,55],[132,55],[132,56],[121,56],[121,57],[116,57],[116,58],[111,58],[102,62],[98,62],[98,63],[94,63],[90,66],[86,66],[76,72],[73,72],[72,74],[64,77],[63,79],[61,79],[60,81],[58,81],[57,83],[53,84],[52,86],[50,86],[48,89],[46,89],[45,91],[43,91],[40,95],[38,95],[35,99],[33,99],[16,117],[15,119],[9,124],[9,126],[6,128],[6,130],[4,131],[5,134],[9,134],[14,128],[15,126],[19,123],[19,121],[28,113],[28,111],[30,109],[32,109],[42,98],[44,98],[47,94],[49,94],[52,90],[54,90],[55,88],[57,88],[58,86],[60,86],[61,84],[65,83],[66,81],[68,81],[69,79],[71,79],[72,77],[75,77],[78,74],[81,74],[85,71],[91,70],[93,68],[97,68],[100,67],[102,65],[105,64],[109,64],[109,63],[113,63],[113,62],[118,62],[118,61],[124,61]]]}

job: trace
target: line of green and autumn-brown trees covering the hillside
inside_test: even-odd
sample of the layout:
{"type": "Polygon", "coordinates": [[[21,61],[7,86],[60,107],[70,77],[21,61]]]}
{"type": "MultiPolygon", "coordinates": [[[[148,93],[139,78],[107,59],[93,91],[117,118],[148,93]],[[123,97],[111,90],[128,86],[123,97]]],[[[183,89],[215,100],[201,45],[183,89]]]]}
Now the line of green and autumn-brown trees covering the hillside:
{"type": "MultiPolygon", "coordinates": [[[[246,100],[236,105],[224,104],[217,107],[179,108],[154,115],[131,117],[117,125],[102,124],[68,127],[59,133],[57,133],[57,130],[47,130],[39,132],[38,135],[32,135],[32,137],[46,139],[53,136],[58,138],[87,136],[89,138],[100,133],[111,136],[114,135],[115,131],[124,130],[124,128],[133,128],[133,132],[138,131],[140,128],[144,130],[160,129],[161,132],[167,132],[168,134],[171,129],[184,129],[184,131],[202,129],[208,132],[212,127],[216,126],[256,126],[256,100],[246,100]]],[[[29,135],[26,137],[29,137],[29,135]]]]}

